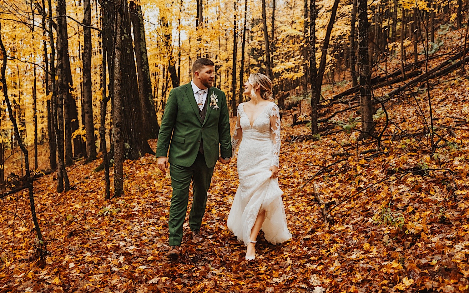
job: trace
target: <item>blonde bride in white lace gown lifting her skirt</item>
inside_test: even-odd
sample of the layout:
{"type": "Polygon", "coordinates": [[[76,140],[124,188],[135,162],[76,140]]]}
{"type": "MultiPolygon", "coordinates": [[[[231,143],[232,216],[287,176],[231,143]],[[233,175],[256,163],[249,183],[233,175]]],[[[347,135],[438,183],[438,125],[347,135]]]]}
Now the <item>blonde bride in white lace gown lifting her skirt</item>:
{"type": "Polygon", "coordinates": [[[239,187],[227,220],[228,228],[247,246],[246,259],[256,255],[257,234],[277,244],[289,240],[282,190],[279,187],[280,114],[272,99],[271,80],[259,73],[244,83],[250,101],[238,106],[231,141],[232,157],[239,146],[239,187]]]}

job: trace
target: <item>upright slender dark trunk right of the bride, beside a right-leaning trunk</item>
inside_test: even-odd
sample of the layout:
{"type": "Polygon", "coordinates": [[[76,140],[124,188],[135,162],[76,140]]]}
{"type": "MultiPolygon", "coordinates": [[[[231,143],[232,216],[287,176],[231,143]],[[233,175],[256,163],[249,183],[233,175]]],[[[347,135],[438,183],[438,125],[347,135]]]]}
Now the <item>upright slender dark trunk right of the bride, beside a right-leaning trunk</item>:
{"type": "Polygon", "coordinates": [[[318,78],[318,71],[316,68],[316,17],[318,11],[316,10],[316,0],[310,0],[310,79],[311,79],[311,131],[313,134],[318,133],[318,97],[316,92],[316,80],[318,78]],[[313,121],[316,121],[314,123],[313,121]]]}

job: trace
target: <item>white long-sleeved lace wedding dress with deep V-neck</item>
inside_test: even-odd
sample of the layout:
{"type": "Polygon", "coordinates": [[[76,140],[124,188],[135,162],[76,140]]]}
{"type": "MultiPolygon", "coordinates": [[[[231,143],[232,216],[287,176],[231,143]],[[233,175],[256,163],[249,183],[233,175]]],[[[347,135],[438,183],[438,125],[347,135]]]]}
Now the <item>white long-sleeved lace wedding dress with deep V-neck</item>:
{"type": "Polygon", "coordinates": [[[273,165],[279,166],[279,108],[275,103],[269,103],[251,125],[243,105],[238,106],[232,138],[232,157],[239,145],[239,187],[234,195],[227,226],[240,242],[247,245],[257,215],[265,210],[262,225],[265,240],[272,244],[281,243],[292,238],[292,234],[287,228],[283,191],[277,178],[271,178],[272,172],[269,170],[273,165]]]}

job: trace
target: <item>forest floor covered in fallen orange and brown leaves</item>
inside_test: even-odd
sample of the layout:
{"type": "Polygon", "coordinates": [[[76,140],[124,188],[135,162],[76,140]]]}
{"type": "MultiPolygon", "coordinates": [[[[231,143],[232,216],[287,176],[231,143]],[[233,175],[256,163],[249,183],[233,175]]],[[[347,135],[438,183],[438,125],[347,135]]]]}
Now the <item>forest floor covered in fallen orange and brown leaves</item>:
{"type": "MultiPolygon", "coordinates": [[[[125,162],[125,195],[110,201],[104,171],[93,171],[100,159],[68,168],[72,190],[62,194],[54,174],[43,176],[34,191],[49,255],[42,267],[34,260],[27,192],[3,198],[0,292],[467,292],[468,78],[453,73],[431,90],[444,138],[434,154],[430,136],[419,135],[424,91],[386,104],[392,123],[381,149],[373,139],[357,143],[360,124],[350,113],[312,140],[284,112],[279,182],[293,239],[271,245],[261,233],[251,263],[226,226],[235,160],[215,167],[205,242],[189,242],[186,221],[177,262],[166,259],[171,179],[154,156],[125,162]],[[336,202],[333,224],[324,223],[314,183],[326,203],[336,202]]],[[[384,113],[375,119],[382,129],[384,113]]]]}

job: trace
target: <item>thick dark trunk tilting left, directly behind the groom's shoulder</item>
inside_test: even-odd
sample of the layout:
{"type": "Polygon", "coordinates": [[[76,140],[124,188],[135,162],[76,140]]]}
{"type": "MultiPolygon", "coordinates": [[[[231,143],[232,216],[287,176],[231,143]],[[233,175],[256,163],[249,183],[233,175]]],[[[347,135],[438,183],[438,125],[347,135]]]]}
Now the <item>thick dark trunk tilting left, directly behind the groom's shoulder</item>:
{"type": "MultiPolygon", "coordinates": [[[[137,64],[140,103],[142,104],[143,109],[143,125],[145,126],[145,129],[147,129],[147,138],[157,138],[159,125],[156,120],[153,93],[151,92],[150,65],[148,64],[142,8],[140,5],[136,5],[133,2],[130,5],[133,10],[130,18],[132,21],[135,40],[134,50],[137,64]]],[[[176,79],[177,84],[179,84],[179,78],[176,79]]]]}

